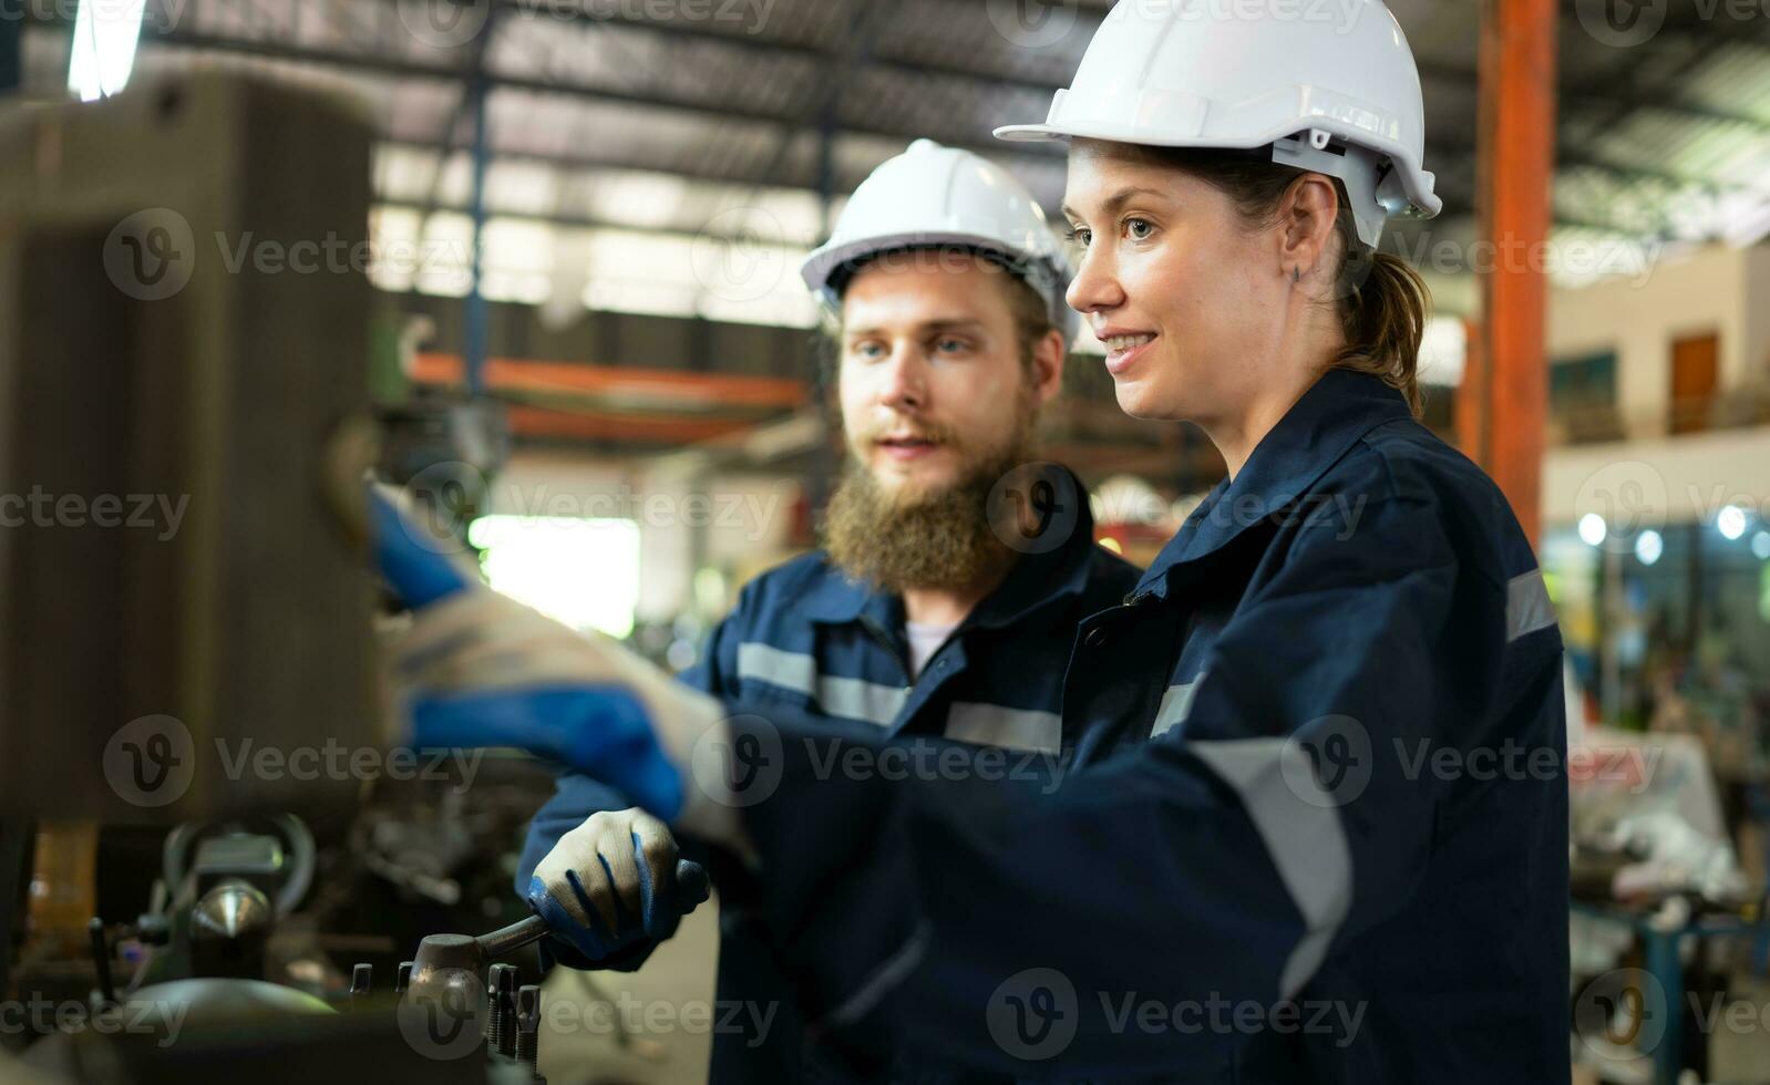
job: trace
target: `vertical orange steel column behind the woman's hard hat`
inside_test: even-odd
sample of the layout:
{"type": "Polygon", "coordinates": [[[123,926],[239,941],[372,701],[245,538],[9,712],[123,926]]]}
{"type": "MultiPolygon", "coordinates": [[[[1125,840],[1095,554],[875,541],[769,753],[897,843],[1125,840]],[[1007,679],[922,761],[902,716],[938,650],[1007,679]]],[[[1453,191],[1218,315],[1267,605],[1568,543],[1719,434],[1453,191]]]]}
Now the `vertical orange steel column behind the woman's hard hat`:
{"type": "Polygon", "coordinates": [[[1487,0],[1481,16],[1481,326],[1469,455],[1531,540],[1540,527],[1549,366],[1545,246],[1556,143],[1556,0],[1487,0]],[[1490,267],[1490,271],[1489,271],[1490,267]]]}

